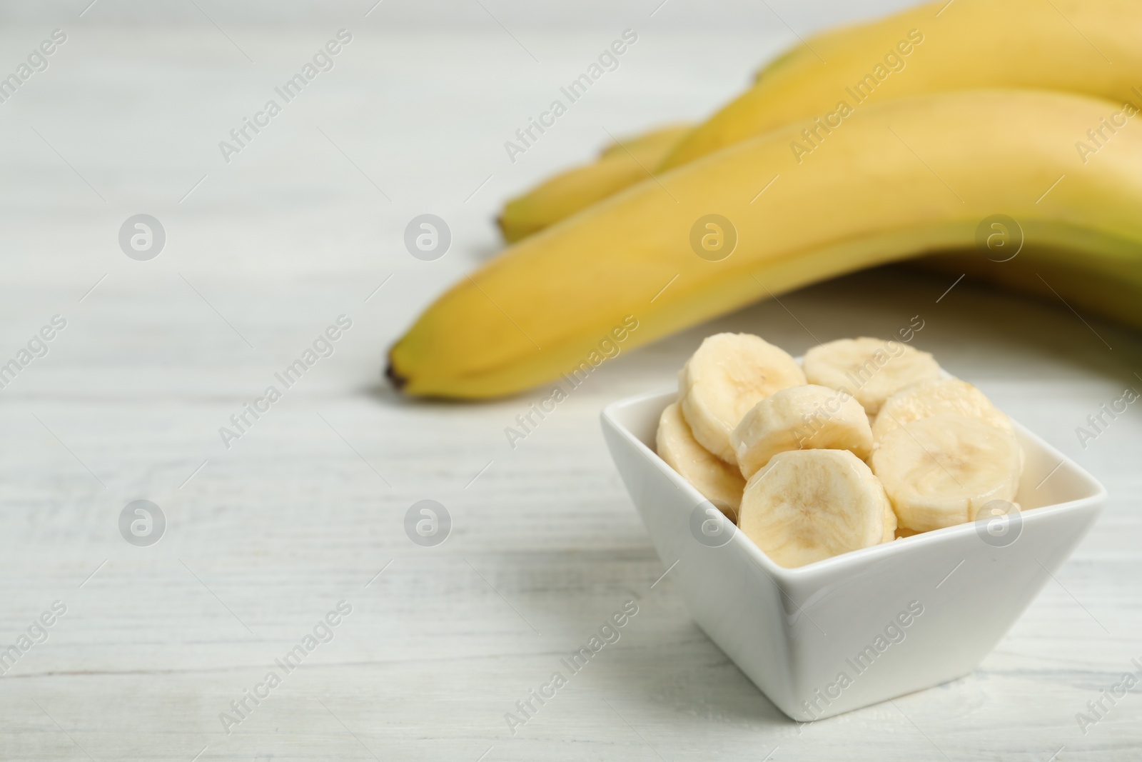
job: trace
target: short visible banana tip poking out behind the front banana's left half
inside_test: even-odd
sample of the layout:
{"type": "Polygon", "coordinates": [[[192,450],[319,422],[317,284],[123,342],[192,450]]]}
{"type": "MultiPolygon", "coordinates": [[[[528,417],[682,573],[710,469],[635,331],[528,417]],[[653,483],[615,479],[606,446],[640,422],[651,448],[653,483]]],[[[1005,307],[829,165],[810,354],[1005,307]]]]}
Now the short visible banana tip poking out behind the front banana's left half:
{"type": "Polygon", "coordinates": [[[597,161],[556,175],[512,199],[496,220],[512,243],[606,196],[646,179],[689,125],[659,127],[603,149],[597,161]]]}

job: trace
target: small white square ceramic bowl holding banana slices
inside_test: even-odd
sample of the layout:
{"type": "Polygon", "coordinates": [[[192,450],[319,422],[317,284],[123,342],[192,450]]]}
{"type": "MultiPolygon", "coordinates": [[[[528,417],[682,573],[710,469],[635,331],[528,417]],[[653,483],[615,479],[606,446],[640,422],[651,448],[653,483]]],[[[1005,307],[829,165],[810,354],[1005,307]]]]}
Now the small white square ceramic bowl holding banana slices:
{"type": "Polygon", "coordinates": [[[741,532],[719,547],[692,534],[692,514],[705,500],[654,452],[659,416],[676,394],[671,387],[608,406],[606,444],[659,558],[677,563],[670,573],[691,615],[799,721],[971,672],[1107,497],[1093,476],[1015,424],[1026,456],[1023,512],[1007,535],[994,537],[979,521],[786,569],[741,532]]]}

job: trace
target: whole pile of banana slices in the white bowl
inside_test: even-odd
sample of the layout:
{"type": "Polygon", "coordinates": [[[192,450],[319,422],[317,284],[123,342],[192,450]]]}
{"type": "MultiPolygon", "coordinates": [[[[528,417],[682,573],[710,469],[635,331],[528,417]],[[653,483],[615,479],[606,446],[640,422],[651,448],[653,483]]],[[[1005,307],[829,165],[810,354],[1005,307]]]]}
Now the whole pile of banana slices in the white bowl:
{"type": "Polygon", "coordinates": [[[931,354],[839,339],[787,352],[708,337],[678,372],[658,455],[782,567],[974,521],[1014,503],[1011,420],[931,354]]]}

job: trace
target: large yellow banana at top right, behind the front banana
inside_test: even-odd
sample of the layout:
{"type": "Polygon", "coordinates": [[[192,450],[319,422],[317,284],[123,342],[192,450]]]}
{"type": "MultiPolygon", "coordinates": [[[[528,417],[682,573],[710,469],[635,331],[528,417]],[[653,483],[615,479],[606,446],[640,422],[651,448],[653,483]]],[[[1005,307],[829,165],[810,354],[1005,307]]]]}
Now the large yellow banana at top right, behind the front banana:
{"type": "Polygon", "coordinates": [[[656,171],[803,119],[818,120],[802,138],[812,147],[838,112],[923,93],[1047,88],[1139,102],[1140,35],[1137,0],[936,0],[811,38],[795,65],[766,72],[656,171]]]}

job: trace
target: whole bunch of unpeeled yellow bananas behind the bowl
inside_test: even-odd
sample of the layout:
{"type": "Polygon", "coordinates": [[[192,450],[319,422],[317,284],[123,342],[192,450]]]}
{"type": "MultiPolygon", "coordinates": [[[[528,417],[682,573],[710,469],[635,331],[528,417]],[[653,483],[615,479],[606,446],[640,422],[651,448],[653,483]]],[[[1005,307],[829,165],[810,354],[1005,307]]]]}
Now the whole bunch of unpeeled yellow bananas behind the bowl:
{"type": "Polygon", "coordinates": [[[442,295],[387,375],[413,395],[509,394],[589,372],[616,326],[637,326],[632,348],[933,252],[1142,327],[1140,32],[1142,5],[1124,0],[957,0],[812,38],[657,143],[653,177],[613,193],[618,173],[595,185],[586,168],[547,222],[505,210],[512,235],[538,232],[442,295]],[[1018,256],[976,251],[1012,233],[996,215],[1018,256]]]}

